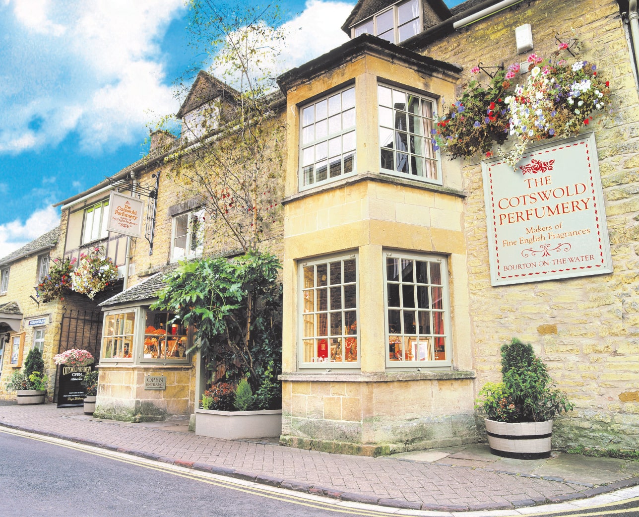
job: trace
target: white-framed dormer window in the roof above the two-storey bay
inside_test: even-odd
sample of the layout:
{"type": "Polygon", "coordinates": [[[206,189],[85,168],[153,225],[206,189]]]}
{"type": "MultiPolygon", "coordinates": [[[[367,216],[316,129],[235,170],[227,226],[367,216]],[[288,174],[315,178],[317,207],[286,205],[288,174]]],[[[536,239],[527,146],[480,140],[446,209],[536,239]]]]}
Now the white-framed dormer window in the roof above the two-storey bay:
{"type": "Polygon", "coordinates": [[[398,2],[351,29],[353,38],[372,34],[390,43],[401,43],[422,31],[419,0],[398,2]]]}

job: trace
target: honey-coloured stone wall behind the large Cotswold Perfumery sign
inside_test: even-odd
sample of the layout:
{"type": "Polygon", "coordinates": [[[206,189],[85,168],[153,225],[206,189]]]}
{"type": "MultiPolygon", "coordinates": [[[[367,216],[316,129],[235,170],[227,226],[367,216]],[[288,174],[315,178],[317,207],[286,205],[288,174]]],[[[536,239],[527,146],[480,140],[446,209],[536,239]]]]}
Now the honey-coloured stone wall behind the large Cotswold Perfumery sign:
{"type": "MultiPolygon", "coordinates": [[[[533,344],[574,412],[556,421],[556,447],[639,446],[639,102],[619,5],[614,1],[532,1],[460,29],[420,52],[470,68],[525,61],[516,54],[514,29],[530,23],[534,50],[548,57],[555,34],[576,38],[578,59],[610,80],[612,114],[594,130],[610,233],[613,274],[493,288],[480,158],[462,167],[463,220],[475,389],[500,378],[499,347],[516,336],[533,344]]],[[[560,58],[573,63],[567,52],[560,58]]],[[[486,79],[484,77],[484,79],[486,79]]],[[[452,99],[446,99],[447,104],[452,99]]],[[[441,109],[441,108],[440,108],[441,109]]],[[[446,158],[444,158],[446,159],[446,158]]]]}

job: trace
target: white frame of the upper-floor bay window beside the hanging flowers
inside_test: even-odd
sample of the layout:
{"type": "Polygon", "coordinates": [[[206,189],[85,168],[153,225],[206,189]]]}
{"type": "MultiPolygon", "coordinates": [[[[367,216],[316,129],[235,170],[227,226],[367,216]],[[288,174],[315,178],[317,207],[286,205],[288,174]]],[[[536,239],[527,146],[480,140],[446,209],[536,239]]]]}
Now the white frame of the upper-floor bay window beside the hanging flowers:
{"type": "MultiPolygon", "coordinates": [[[[400,99],[401,100],[401,99],[400,99]]],[[[435,185],[443,185],[442,179],[442,160],[440,153],[433,150],[431,143],[431,130],[435,128],[435,119],[437,116],[437,102],[435,98],[420,93],[415,93],[410,89],[391,86],[383,82],[377,84],[377,111],[378,111],[378,134],[380,139],[380,171],[383,174],[392,174],[399,178],[406,178],[415,181],[424,181],[426,183],[435,183],[435,185]],[[382,98],[382,92],[390,90],[390,105],[382,98]],[[404,109],[401,109],[401,102],[395,102],[394,96],[405,96],[406,103],[404,109]],[[410,110],[411,102],[419,99],[421,107],[419,113],[413,113],[410,110]],[[431,116],[424,113],[424,106],[430,106],[431,116]],[[389,115],[390,112],[390,115],[389,115]],[[401,117],[403,116],[404,127],[401,127],[401,117]],[[419,127],[422,134],[410,129],[413,120],[413,128],[415,128],[414,118],[419,118],[419,127]],[[400,125],[400,127],[397,127],[400,125]],[[406,142],[401,139],[404,135],[406,142]],[[390,146],[384,143],[389,141],[390,146]],[[405,149],[398,149],[404,146],[405,149]],[[421,146],[421,150],[419,150],[421,146]],[[421,152],[421,155],[419,154],[421,152]],[[393,161],[393,168],[384,167],[385,160],[383,157],[389,157],[393,161]],[[415,165],[422,163],[423,176],[413,173],[415,165]],[[407,172],[396,170],[400,168],[400,163],[404,163],[409,169],[407,172]]]]}

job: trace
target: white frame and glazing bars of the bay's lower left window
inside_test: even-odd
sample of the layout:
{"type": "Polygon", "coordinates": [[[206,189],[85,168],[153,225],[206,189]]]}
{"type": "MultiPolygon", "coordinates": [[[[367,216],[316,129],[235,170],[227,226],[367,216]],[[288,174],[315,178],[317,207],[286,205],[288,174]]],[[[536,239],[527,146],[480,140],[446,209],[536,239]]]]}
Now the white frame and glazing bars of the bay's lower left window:
{"type": "Polygon", "coordinates": [[[359,289],[359,256],[357,253],[351,253],[351,254],[342,254],[342,255],[331,255],[331,256],[325,256],[325,257],[321,257],[318,259],[313,259],[313,260],[309,260],[309,261],[300,261],[300,263],[298,263],[298,311],[297,311],[297,320],[298,320],[298,367],[300,367],[300,369],[360,369],[361,367],[361,357],[362,357],[362,347],[361,347],[361,339],[360,339],[360,325],[359,325],[359,321],[360,321],[360,289],[359,289]],[[353,282],[344,282],[344,261],[348,261],[348,260],[355,260],[355,282],[353,284],[353,282]],[[341,261],[341,283],[340,284],[330,284],[330,263],[334,263],[337,261],[341,261]],[[313,299],[313,308],[316,309],[314,311],[309,311],[309,312],[305,312],[305,293],[315,293],[317,291],[318,288],[323,288],[323,285],[314,285],[310,288],[304,288],[304,268],[309,267],[309,266],[313,266],[315,273],[316,274],[316,266],[318,265],[323,265],[323,264],[327,264],[327,281],[325,284],[325,287],[327,289],[327,311],[319,311],[318,308],[318,301],[316,300],[316,297],[314,297],[313,299]],[[336,287],[336,286],[341,286],[342,291],[341,291],[341,307],[339,309],[334,309],[333,307],[330,306],[330,287],[336,287]],[[327,316],[329,314],[333,314],[333,313],[337,313],[338,311],[341,312],[342,314],[342,318],[341,318],[341,327],[344,327],[344,323],[346,318],[344,317],[344,313],[346,312],[352,312],[352,308],[351,307],[344,307],[344,286],[355,286],[355,293],[356,293],[356,304],[355,304],[355,329],[348,331],[347,334],[347,330],[346,328],[341,329],[342,333],[337,335],[335,334],[334,337],[332,337],[330,335],[330,318],[327,318],[327,334],[319,334],[318,333],[318,322],[319,322],[319,318],[317,318],[317,313],[327,313],[327,316]],[[312,336],[307,336],[305,337],[304,334],[304,325],[305,325],[305,319],[304,319],[304,315],[305,314],[314,314],[314,318],[313,318],[313,322],[312,325],[314,326],[313,328],[313,332],[312,332],[312,336]],[[352,350],[353,347],[353,342],[351,341],[352,338],[355,338],[355,346],[357,347],[357,359],[356,360],[346,360],[346,358],[348,357],[348,353],[349,350],[352,350]],[[341,353],[342,358],[344,359],[342,362],[337,362],[335,360],[331,359],[331,353],[332,353],[332,346],[330,343],[331,339],[339,339],[339,353],[341,353]],[[320,358],[317,357],[315,359],[318,359],[316,361],[305,361],[305,353],[306,353],[306,348],[307,347],[311,347],[309,348],[309,350],[314,350],[314,352],[311,352],[311,355],[317,356],[319,355],[318,353],[318,348],[319,346],[322,346],[321,341],[324,340],[326,343],[324,343],[324,345],[327,347],[326,348],[326,357],[325,358],[320,358]],[[348,343],[347,340],[350,340],[350,344],[348,343]],[[311,343],[312,341],[312,343],[311,343]]]}

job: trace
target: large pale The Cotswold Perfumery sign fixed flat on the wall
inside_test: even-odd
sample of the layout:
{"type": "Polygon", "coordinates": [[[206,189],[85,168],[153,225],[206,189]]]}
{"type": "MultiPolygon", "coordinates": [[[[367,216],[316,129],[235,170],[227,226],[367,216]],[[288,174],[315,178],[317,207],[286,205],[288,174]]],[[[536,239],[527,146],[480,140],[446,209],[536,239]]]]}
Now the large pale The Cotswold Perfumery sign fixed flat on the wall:
{"type": "Polygon", "coordinates": [[[594,134],[482,170],[493,286],[612,273],[594,134]]]}

